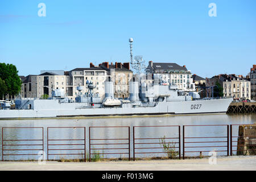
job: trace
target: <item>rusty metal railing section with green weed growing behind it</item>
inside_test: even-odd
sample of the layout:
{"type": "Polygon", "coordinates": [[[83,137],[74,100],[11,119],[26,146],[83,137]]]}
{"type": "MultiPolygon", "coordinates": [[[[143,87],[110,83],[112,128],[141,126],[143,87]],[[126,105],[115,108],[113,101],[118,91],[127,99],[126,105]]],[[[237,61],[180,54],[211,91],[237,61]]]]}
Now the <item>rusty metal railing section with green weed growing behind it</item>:
{"type": "Polygon", "coordinates": [[[133,160],[135,160],[135,154],[171,154],[171,153],[178,153],[179,155],[179,159],[181,158],[181,148],[180,148],[180,126],[134,126],[133,127],[133,160]],[[138,128],[138,127],[176,127],[177,128],[177,131],[175,134],[178,135],[178,137],[165,137],[164,138],[135,138],[135,128],[138,128]],[[159,140],[159,142],[155,142],[155,140],[159,140]],[[161,139],[164,139],[161,140],[161,139]],[[175,140],[175,142],[166,142],[165,140],[175,140]],[[152,140],[152,142],[139,142],[139,143],[136,143],[136,140],[152,140]],[[167,144],[168,147],[165,148],[165,147],[152,147],[152,144],[155,145],[155,144],[167,144]],[[174,144],[173,146],[170,147],[170,144],[174,144]],[[178,147],[176,147],[176,144],[178,144],[178,147]],[[143,147],[136,147],[136,145],[140,145],[140,146],[143,146],[143,147]],[[170,150],[170,148],[173,148],[172,150],[175,150],[176,148],[178,148],[178,151],[156,151],[158,149],[166,149],[166,150],[170,150]],[[155,151],[154,152],[142,152],[141,150],[148,150],[148,149],[154,149],[155,151]],[[135,152],[135,150],[139,150],[141,152],[135,152]]]}

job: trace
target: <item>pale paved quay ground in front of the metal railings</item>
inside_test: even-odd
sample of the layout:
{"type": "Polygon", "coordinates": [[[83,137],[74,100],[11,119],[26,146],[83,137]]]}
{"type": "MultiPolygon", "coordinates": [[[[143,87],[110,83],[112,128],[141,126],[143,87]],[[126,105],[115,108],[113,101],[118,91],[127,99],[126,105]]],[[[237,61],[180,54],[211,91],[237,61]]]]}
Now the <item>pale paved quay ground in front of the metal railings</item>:
{"type": "Polygon", "coordinates": [[[0,170],[256,170],[256,156],[218,157],[217,164],[209,164],[209,159],[185,160],[145,160],[135,162],[94,162],[62,163],[46,162],[0,162],[0,170]]]}

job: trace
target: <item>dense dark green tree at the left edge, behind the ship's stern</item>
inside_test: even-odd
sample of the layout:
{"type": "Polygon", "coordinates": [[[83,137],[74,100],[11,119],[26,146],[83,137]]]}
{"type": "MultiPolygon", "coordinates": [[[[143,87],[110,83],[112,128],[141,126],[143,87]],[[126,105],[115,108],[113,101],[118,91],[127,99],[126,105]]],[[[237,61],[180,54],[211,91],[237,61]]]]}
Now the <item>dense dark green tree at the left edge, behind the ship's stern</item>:
{"type": "Polygon", "coordinates": [[[13,64],[0,63],[0,78],[5,81],[5,94],[15,96],[20,92],[22,81],[18,76],[18,70],[13,64]]]}

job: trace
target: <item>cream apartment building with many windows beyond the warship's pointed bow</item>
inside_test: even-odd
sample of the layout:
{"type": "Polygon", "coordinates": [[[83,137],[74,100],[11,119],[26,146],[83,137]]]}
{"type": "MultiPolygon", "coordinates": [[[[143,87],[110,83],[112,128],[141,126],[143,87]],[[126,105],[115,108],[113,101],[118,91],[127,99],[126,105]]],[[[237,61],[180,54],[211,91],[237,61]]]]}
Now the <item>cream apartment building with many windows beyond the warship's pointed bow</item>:
{"type": "MultiPolygon", "coordinates": [[[[224,97],[233,97],[234,99],[251,99],[251,84],[242,75],[218,75],[212,78],[206,78],[205,86],[210,87],[220,83],[223,88],[224,97]]],[[[208,89],[208,96],[212,95],[212,89],[208,89]]]]}

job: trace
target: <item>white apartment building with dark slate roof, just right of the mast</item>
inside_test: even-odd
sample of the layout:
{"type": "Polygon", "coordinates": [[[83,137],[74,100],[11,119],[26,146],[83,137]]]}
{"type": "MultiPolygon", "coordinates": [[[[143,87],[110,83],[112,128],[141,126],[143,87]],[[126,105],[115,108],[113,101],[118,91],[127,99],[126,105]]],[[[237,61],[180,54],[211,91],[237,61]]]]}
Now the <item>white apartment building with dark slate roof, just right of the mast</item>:
{"type": "Polygon", "coordinates": [[[157,74],[159,78],[177,85],[178,89],[184,92],[195,91],[191,71],[185,65],[181,67],[176,63],[153,63],[153,61],[149,61],[146,73],[157,74]]]}

